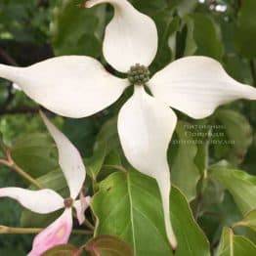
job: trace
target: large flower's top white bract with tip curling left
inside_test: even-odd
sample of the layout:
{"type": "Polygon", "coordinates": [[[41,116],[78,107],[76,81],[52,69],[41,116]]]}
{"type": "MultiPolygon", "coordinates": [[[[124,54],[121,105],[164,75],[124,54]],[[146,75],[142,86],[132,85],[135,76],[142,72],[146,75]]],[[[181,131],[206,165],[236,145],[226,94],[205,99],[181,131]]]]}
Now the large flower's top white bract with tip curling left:
{"type": "Polygon", "coordinates": [[[114,16],[107,24],[104,56],[107,63],[120,72],[128,72],[134,64],[149,66],[157,52],[155,23],[138,12],[127,0],[89,0],[87,7],[109,3],[114,16]]]}

